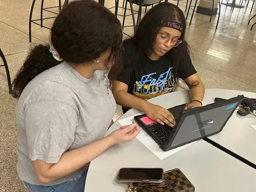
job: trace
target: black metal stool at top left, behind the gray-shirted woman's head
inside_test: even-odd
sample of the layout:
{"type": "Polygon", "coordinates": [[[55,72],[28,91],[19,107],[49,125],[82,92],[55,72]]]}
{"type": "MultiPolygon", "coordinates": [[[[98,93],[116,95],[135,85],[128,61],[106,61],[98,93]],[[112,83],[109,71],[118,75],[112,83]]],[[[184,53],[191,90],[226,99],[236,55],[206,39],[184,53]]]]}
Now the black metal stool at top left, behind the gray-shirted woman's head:
{"type": "MultiPolygon", "coordinates": [[[[36,2],[36,0],[33,0],[32,5],[31,5],[31,9],[30,9],[30,16],[29,16],[29,42],[30,43],[31,43],[31,23],[34,23],[34,24],[40,25],[41,27],[45,27],[47,29],[50,29],[50,28],[48,28],[46,26],[43,26],[43,20],[56,18],[56,16],[55,17],[43,18],[43,11],[47,11],[47,12],[51,12],[51,13],[54,13],[54,14],[58,14],[58,13],[52,12],[52,11],[50,11],[48,9],[58,7],[59,8],[59,12],[60,12],[61,11],[61,7],[62,7],[61,6],[61,0],[59,0],[59,6],[44,8],[44,0],[41,0],[41,17],[40,17],[40,19],[32,20],[32,14],[33,14],[35,2],[36,2]],[[39,20],[40,20],[40,24],[36,23],[36,21],[39,21],[39,20]]],[[[63,6],[65,6],[66,4],[68,4],[68,0],[65,0],[63,6]]]]}

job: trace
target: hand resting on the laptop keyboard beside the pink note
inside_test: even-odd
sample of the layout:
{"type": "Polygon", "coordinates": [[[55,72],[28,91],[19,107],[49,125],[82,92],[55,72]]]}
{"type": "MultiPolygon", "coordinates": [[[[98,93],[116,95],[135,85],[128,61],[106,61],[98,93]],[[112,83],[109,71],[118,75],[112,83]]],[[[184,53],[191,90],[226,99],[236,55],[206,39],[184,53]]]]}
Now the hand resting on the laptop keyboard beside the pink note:
{"type": "Polygon", "coordinates": [[[144,112],[149,118],[155,120],[161,125],[167,124],[170,127],[175,126],[176,122],[172,113],[159,105],[148,103],[144,112]]]}

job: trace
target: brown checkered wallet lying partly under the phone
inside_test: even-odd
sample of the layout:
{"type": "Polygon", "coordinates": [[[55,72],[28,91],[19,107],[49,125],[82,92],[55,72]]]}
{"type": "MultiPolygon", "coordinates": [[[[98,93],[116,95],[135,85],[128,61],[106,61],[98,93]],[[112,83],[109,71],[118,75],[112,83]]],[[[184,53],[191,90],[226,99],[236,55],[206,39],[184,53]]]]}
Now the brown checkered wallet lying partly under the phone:
{"type": "Polygon", "coordinates": [[[130,183],[128,192],[194,192],[195,187],[179,170],[164,172],[160,184],[130,183]]]}

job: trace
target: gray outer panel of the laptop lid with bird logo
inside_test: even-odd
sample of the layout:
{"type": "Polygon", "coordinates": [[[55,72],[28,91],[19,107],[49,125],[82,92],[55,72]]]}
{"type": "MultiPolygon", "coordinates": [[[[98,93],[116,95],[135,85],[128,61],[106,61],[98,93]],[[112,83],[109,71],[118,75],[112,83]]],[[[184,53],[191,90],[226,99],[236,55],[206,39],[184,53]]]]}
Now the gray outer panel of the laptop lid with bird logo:
{"type": "Polygon", "coordinates": [[[171,147],[220,131],[238,102],[186,116],[171,147]]]}

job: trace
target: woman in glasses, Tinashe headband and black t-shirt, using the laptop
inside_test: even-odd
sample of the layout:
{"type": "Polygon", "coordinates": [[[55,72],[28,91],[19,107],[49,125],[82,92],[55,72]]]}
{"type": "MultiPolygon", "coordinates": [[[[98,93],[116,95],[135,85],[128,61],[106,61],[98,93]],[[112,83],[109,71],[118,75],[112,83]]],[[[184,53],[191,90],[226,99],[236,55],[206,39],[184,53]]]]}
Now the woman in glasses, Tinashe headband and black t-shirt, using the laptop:
{"type": "Polygon", "coordinates": [[[124,113],[135,108],[173,127],[173,115],[146,100],[172,92],[178,78],[190,88],[191,102],[184,110],[202,106],[204,85],[191,62],[185,32],[183,12],[163,2],[150,9],[134,36],[124,41],[124,70],[113,82],[114,97],[124,113]]]}

